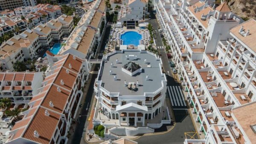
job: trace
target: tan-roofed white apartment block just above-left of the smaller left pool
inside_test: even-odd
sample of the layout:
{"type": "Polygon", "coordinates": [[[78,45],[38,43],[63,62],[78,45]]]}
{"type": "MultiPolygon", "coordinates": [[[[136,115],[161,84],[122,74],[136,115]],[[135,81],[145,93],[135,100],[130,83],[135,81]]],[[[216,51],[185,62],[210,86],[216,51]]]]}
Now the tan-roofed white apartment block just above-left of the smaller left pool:
{"type": "Polygon", "coordinates": [[[34,32],[39,35],[41,46],[49,46],[52,42],[52,29],[46,24],[36,26],[34,32]]]}

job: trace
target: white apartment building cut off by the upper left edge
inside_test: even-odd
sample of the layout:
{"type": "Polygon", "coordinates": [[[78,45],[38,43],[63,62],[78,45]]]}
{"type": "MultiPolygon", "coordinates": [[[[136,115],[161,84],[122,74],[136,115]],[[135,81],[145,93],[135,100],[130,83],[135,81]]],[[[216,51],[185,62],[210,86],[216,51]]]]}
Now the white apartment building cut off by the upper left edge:
{"type": "Polygon", "coordinates": [[[3,36],[7,32],[15,32],[15,27],[20,28],[20,32],[26,30],[26,22],[21,20],[20,17],[0,17],[0,36],[3,36]]]}

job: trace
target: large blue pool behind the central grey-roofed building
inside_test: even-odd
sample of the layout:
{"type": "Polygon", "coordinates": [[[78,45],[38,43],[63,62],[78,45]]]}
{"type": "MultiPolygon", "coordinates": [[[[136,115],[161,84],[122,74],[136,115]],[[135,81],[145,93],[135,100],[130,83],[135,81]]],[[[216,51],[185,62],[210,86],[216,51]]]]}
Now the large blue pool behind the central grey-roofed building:
{"type": "Polygon", "coordinates": [[[123,45],[134,45],[138,46],[140,44],[140,40],[142,39],[142,35],[137,32],[125,32],[121,35],[121,40],[123,40],[123,45]]]}

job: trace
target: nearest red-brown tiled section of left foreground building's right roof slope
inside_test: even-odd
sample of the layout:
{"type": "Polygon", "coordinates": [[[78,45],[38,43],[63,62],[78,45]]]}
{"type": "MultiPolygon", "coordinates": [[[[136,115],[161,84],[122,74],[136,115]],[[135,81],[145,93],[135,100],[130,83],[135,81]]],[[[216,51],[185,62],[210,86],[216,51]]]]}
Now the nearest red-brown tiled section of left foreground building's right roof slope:
{"type": "Polygon", "coordinates": [[[55,133],[56,126],[58,125],[58,122],[61,118],[61,115],[48,110],[49,116],[47,116],[44,114],[45,110],[46,109],[41,107],[38,109],[38,112],[35,114],[33,121],[31,121],[29,127],[27,127],[23,138],[27,138],[29,140],[36,141],[42,144],[50,143],[52,136],[55,133]],[[34,136],[35,130],[40,135],[39,138],[34,136]]]}

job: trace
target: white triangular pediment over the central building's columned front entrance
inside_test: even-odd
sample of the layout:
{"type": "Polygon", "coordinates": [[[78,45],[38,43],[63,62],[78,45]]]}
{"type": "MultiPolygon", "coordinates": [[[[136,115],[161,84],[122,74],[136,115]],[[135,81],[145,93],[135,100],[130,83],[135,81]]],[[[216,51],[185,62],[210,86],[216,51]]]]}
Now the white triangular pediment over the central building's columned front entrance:
{"type": "Polygon", "coordinates": [[[141,106],[134,103],[125,104],[123,106],[116,106],[116,111],[148,111],[148,107],[141,106]]]}

